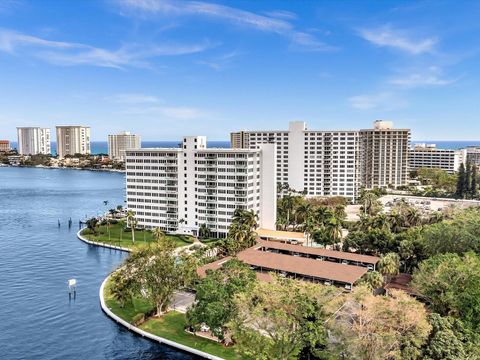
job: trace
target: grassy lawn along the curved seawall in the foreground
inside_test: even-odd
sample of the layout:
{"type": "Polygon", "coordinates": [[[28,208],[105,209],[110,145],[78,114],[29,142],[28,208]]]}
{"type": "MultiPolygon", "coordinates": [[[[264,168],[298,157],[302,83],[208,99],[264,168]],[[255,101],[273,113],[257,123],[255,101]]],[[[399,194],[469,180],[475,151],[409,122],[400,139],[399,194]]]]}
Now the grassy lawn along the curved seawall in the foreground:
{"type": "MultiPolygon", "coordinates": [[[[105,287],[104,295],[105,302],[110,310],[128,322],[131,322],[136,314],[149,312],[154,309],[154,306],[143,299],[135,299],[133,304],[127,304],[121,308],[117,301],[111,297],[108,283],[105,287]]],[[[145,321],[140,325],[140,328],[165,339],[224,359],[240,359],[233,347],[226,348],[215,341],[203,339],[185,332],[185,324],[185,314],[171,311],[159,319],[151,318],[145,321]]]]}

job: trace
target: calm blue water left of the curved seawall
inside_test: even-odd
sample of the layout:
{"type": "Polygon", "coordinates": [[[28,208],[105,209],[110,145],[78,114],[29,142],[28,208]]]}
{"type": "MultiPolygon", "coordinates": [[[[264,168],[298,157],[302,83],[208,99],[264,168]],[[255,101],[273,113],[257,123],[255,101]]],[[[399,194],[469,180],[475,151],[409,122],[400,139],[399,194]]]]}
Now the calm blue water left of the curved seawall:
{"type": "Polygon", "coordinates": [[[122,174],[0,168],[0,359],[191,359],[101,311],[100,284],[125,254],[77,240],[78,220],[123,194],[122,174]]]}

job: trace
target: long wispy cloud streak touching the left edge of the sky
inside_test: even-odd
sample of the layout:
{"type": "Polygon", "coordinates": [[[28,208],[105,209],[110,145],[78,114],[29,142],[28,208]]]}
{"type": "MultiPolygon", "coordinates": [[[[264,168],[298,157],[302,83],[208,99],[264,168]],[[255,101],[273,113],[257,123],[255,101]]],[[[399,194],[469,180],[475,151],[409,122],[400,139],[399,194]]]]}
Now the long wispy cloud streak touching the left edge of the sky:
{"type": "Polygon", "coordinates": [[[27,54],[57,65],[93,65],[124,68],[146,67],[147,60],[161,56],[186,55],[205,51],[212,44],[146,44],[124,45],[116,50],[94,47],[87,44],[52,41],[40,37],[0,29],[0,51],[12,55],[27,54]]]}

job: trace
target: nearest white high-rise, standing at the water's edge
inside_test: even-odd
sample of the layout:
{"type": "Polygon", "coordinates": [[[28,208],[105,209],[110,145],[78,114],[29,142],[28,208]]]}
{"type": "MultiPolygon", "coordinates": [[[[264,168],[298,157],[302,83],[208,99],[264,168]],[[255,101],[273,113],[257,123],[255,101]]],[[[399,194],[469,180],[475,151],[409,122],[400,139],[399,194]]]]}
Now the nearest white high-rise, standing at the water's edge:
{"type": "Polygon", "coordinates": [[[207,148],[187,136],[179,148],[126,150],[127,207],[139,226],[198,235],[205,224],[226,237],[237,208],[253,210],[260,228],[275,229],[276,149],[207,148]]]}

